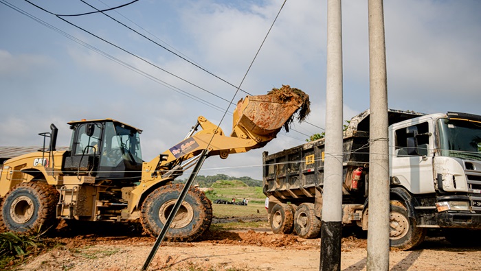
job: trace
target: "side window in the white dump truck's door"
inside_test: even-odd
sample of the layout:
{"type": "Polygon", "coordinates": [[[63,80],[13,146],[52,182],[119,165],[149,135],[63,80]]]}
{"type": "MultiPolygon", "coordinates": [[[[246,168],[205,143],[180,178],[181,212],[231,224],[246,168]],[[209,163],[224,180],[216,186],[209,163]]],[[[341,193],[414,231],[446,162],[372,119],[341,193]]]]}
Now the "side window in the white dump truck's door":
{"type": "Polygon", "coordinates": [[[419,123],[396,130],[397,157],[429,156],[429,124],[419,123]]]}

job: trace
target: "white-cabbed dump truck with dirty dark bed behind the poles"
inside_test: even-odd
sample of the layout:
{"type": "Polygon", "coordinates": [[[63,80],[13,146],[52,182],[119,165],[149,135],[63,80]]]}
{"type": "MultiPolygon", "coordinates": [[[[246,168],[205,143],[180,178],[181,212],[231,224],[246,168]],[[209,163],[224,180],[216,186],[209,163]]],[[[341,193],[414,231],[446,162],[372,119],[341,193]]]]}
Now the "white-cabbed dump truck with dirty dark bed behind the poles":
{"type": "MultiPolygon", "coordinates": [[[[481,116],[389,110],[390,246],[427,231],[467,244],[481,238],[481,116]]],[[[368,230],[369,110],[343,134],[342,224],[368,230]]],[[[263,191],[274,233],[320,234],[325,139],[263,153],[263,191]]]]}

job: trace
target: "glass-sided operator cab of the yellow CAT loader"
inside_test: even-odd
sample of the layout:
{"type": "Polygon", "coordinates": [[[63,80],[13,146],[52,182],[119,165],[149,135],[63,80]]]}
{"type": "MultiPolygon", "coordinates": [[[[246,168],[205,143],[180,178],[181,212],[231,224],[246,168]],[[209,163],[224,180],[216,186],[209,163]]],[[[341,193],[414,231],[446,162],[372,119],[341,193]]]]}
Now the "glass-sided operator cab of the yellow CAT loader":
{"type": "Polygon", "coordinates": [[[70,152],[63,170],[68,175],[97,179],[140,178],[142,130],[114,119],[71,121],[70,152]]]}

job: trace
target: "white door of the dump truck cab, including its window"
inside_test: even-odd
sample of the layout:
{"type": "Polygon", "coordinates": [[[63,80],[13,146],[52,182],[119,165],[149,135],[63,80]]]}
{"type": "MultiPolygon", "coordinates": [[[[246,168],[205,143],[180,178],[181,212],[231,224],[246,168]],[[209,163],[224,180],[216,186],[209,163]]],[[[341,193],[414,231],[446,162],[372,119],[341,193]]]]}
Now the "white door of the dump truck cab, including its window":
{"type": "Polygon", "coordinates": [[[434,193],[432,123],[393,126],[390,176],[411,193],[434,193]],[[394,152],[392,152],[394,150],[394,152]]]}

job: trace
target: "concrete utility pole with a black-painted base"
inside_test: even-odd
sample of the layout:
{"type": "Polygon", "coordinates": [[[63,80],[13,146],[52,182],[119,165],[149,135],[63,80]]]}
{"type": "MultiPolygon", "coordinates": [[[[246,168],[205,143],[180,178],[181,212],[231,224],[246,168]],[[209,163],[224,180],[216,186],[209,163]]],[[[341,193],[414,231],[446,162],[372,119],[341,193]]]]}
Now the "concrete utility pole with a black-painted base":
{"type": "Polygon", "coordinates": [[[326,144],[320,270],[341,270],[342,230],[341,0],[327,1],[326,144]]]}

